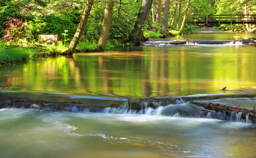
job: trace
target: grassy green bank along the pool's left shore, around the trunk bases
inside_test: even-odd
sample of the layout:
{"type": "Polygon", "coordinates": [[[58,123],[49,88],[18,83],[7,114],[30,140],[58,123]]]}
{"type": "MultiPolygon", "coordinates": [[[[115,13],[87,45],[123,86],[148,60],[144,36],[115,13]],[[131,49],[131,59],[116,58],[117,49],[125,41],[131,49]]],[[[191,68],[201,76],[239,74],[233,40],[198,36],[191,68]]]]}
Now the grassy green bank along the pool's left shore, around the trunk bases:
{"type": "MultiPolygon", "coordinates": [[[[110,40],[107,42],[105,50],[110,50],[116,47],[129,47],[130,43],[120,43],[110,40]]],[[[50,57],[66,55],[68,45],[62,41],[54,43],[40,43],[38,41],[19,41],[5,43],[0,40],[0,65],[11,65],[19,61],[34,59],[38,57],[50,57]]],[[[97,41],[80,41],[75,52],[92,52],[97,51],[97,41]]]]}

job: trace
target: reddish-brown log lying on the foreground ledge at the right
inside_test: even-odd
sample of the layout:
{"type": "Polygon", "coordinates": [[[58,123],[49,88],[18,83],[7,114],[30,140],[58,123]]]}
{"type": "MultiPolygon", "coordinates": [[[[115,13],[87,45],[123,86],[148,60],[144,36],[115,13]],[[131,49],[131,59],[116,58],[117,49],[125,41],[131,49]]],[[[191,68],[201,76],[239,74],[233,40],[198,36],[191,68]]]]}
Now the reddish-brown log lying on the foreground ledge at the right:
{"type": "Polygon", "coordinates": [[[191,101],[190,103],[197,105],[198,107],[204,107],[204,109],[221,111],[226,113],[241,113],[241,119],[250,119],[253,122],[256,121],[256,110],[255,109],[244,109],[241,107],[232,107],[228,105],[220,105],[220,103],[201,103],[196,101],[191,101]]]}

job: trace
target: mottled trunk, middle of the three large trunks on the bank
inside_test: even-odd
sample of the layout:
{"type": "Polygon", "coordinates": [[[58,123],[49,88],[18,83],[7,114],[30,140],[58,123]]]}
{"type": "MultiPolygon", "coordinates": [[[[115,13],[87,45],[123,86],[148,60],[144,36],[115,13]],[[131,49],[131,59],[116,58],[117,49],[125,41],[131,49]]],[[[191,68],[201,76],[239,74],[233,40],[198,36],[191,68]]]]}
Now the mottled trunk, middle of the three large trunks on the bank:
{"type": "Polygon", "coordinates": [[[98,41],[98,49],[101,51],[105,50],[105,47],[108,41],[108,35],[110,32],[110,26],[112,21],[113,7],[114,7],[113,0],[110,0],[109,2],[106,3],[104,18],[103,18],[103,26],[101,28],[101,36],[98,41]]]}

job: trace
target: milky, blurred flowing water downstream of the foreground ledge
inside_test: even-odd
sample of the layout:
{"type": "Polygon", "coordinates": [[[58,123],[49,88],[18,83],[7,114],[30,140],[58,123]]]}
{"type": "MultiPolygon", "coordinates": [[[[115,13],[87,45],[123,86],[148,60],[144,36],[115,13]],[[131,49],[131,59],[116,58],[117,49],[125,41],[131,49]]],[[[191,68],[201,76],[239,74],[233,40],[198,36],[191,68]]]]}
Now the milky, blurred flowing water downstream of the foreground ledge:
{"type": "Polygon", "coordinates": [[[0,111],[0,153],[11,157],[255,157],[241,122],[156,115],[0,111]]]}

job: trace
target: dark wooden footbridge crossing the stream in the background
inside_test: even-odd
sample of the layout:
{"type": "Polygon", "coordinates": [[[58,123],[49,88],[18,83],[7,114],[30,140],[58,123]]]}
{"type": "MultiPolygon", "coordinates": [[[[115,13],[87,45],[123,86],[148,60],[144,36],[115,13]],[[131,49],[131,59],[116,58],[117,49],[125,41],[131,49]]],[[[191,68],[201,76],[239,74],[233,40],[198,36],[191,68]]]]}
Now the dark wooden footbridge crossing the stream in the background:
{"type": "Polygon", "coordinates": [[[256,24],[256,14],[216,14],[208,15],[204,20],[194,20],[194,24],[256,24]]]}

